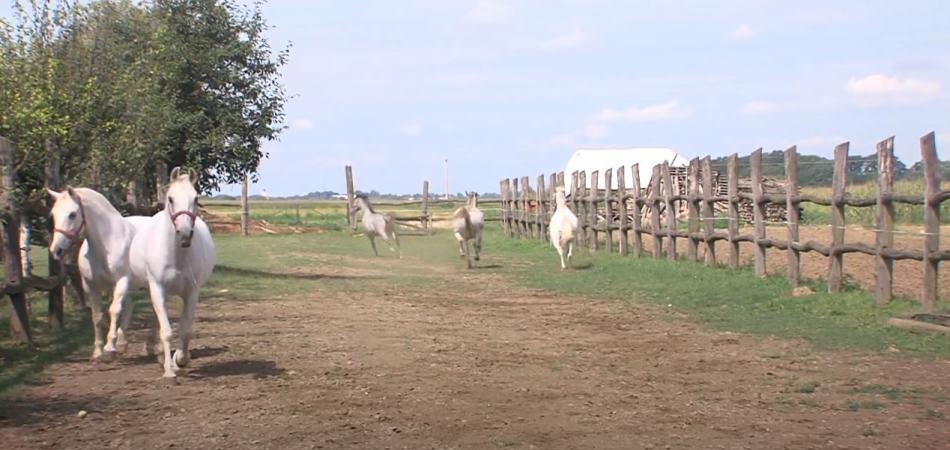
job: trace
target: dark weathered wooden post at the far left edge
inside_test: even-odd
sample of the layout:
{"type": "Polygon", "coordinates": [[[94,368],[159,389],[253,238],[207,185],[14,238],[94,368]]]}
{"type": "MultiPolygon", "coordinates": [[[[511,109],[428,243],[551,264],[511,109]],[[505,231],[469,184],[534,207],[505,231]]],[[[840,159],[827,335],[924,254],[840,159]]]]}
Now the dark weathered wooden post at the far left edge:
{"type": "Polygon", "coordinates": [[[0,239],[3,239],[4,285],[10,296],[10,334],[17,342],[32,345],[20,261],[20,208],[13,193],[15,155],[13,142],[0,137],[0,208],[3,209],[0,239]]]}

